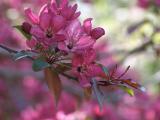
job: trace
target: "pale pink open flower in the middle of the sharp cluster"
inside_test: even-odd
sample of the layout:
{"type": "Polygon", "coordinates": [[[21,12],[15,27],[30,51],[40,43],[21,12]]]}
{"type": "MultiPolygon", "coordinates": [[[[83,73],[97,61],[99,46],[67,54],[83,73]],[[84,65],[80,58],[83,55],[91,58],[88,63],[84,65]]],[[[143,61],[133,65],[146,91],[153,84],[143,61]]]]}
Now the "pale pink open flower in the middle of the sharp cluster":
{"type": "Polygon", "coordinates": [[[65,30],[66,40],[59,44],[59,48],[65,51],[80,52],[92,48],[95,40],[87,35],[79,20],[74,20],[65,30]]]}

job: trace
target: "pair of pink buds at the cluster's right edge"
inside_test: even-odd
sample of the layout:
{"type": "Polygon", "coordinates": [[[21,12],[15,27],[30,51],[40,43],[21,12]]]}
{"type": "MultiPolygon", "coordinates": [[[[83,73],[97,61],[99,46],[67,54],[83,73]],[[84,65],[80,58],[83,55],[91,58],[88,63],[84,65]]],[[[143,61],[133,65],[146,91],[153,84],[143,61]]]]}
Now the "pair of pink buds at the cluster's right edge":
{"type": "Polygon", "coordinates": [[[97,40],[105,34],[105,31],[101,27],[92,29],[92,18],[88,18],[83,22],[84,31],[90,35],[93,39],[97,40]]]}

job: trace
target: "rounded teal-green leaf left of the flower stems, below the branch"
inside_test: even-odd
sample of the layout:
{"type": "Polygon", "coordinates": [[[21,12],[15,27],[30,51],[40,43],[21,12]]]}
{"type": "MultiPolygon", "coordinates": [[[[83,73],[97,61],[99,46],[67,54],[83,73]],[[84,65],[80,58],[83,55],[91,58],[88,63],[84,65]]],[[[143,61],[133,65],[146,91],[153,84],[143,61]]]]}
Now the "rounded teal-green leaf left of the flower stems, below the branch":
{"type": "Polygon", "coordinates": [[[44,60],[41,60],[41,59],[36,59],[33,61],[33,64],[32,64],[32,69],[35,71],[35,72],[38,72],[38,71],[41,71],[47,67],[50,67],[51,65],[47,62],[45,62],[44,60]]]}

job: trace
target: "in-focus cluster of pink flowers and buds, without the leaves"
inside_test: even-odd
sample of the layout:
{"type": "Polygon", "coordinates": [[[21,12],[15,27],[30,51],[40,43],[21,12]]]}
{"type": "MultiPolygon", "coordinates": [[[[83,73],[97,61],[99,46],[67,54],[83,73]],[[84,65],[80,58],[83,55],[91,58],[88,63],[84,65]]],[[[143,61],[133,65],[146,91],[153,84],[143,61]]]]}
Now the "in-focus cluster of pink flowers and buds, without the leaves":
{"type": "Polygon", "coordinates": [[[81,85],[87,86],[90,78],[100,72],[99,66],[94,63],[94,44],[105,31],[100,27],[93,28],[91,18],[81,25],[78,20],[80,12],[76,10],[77,4],[70,6],[67,0],[59,4],[52,0],[41,8],[38,16],[30,8],[26,9],[30,22],[24,22],[22,28],[31,35],[27,45],[43,53],[48,63],[55,64],[72,55],[72,71],[81,85]]]}

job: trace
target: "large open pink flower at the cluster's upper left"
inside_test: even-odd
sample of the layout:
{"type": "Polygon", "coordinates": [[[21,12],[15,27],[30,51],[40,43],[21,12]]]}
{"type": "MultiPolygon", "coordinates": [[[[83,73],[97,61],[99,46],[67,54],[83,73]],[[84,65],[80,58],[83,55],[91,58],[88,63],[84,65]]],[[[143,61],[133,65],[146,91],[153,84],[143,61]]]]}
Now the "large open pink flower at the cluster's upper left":
{"type": "Polygon", "coordinates": [[[65,39],[64,35],[58,33],[65,26],[65,19],[60,15],[54,15],[48,5],[42,7],[38,17],[30,9],[26,9],[25,13],[33,24],[30,33],[37,41],[44,45],[52,45],[65,39]]]}

